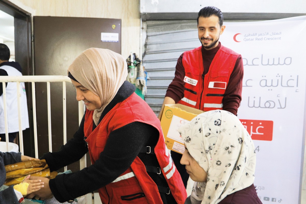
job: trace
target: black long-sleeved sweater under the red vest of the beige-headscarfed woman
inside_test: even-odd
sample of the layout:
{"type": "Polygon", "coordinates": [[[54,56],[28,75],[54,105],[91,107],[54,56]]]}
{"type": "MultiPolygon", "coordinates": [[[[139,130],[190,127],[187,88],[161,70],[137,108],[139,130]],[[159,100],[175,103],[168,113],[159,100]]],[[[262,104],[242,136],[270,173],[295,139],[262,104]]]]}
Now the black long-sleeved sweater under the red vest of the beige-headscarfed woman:
{"type": "MultiPolygon", "coordinates": [[[[117,103],[128,98],[134,91],[135,87],[131,83],[123,83],[114,99],[104,109],[99,122],[117,103]]],[[[158,138],[157,129],[141,122],[133,122],[114,130],[110,133],[106,146],[95,164],[71,174],[58,175],[55,179],[50,180],[49,186],[54,197],[60,202],[65,202],[99,189],[125,172],[136,156],[144,165],[159,167],[155,155],[140,153],[142,147],[154,147],[158,138]]],[[[78,161],[87,152],[83,117],[73,139],[63,145],[58,152],[47,153],[42,159],[46,159],[50,170],[54,171],[78,161]]],[[[164,178],[159,177],[156,173],[148,172],[148,174],[157,185],[167,187],[164,178]]],[[[175,203],[172,195],[161,194],[161,198],[164,203],[175,203]]]]}

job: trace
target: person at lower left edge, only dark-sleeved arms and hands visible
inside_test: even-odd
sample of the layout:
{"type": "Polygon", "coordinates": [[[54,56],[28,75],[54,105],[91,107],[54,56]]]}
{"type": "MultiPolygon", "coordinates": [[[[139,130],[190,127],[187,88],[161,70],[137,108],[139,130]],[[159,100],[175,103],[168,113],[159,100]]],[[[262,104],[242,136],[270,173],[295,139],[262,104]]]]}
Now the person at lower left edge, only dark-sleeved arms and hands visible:
{"type": "MultiPolygon", "coordinates": [[[[5,165],[14,164],[21,161],[28,161],[35,158],[21,155],[21,153],[16,152],[0,152],[0,204],[13,204],[21,203],[24,200],[24,196],[38,191],[43,187],[44,182],[41,182],[40,177],[35,180],[29,180],[30,175],[28,175],[21,184],[12,185],[9,187],[4,187],[3,184],[6,180],[5,165]],[[25,185],[23,188],[25,192],[21,191],[21,185],[25,185]],[[26,190],[25,190],[26,189],[26,190]]],[[[39,159],[35,159],[39,160],[39,159]]]]}

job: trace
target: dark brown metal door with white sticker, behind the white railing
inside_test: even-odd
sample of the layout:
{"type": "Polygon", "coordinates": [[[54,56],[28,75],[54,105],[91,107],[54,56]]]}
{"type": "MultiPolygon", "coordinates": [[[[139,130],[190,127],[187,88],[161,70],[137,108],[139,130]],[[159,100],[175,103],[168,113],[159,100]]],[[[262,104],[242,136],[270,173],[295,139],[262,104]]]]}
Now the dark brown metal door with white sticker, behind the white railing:
{"type": "MultiPolygon", "coordinates": [[[[35,16],[34,75],[67,75],[74,58],[90,47],[107,48],[121,54],[121,20],[80,17],[35,16]],[[102,42],[101,33],[118,33],[118,42],[102,42]]],[[[53,151],[63,144],[62,83],[51,84],[51,124],[53,151]]],[[[78,128],[75,88],[67,84],[67,139],[78,128]]],[[[47,86],[36,85],[39,156],[48,151],[47,86]],[[41,102],[39,102],[39,100],[41,102]]],[[[72,169],[72,167],[69,167],[72,169]]]]}

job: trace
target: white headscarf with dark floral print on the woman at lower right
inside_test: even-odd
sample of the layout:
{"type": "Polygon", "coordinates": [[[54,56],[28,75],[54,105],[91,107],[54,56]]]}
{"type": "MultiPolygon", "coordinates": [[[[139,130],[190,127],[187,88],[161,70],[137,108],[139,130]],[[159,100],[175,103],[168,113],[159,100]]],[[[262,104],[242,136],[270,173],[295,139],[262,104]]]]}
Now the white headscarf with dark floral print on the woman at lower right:
{"type": "Polygon", "coordinates": [[[253,141],[239,119],[225,110],[211,110],[178,129],[190,155],[207,172],[195,182],[192,204],[216,204],[254,183],[253,141]]]}

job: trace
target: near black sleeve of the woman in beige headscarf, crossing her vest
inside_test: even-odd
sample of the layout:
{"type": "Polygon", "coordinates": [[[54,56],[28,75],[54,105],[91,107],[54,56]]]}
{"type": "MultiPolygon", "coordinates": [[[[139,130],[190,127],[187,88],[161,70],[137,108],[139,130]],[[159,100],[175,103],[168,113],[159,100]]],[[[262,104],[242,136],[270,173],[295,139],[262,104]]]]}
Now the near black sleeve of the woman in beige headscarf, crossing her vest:
{"type": "Polygon", "coordinates": [[[111,132],[95,164],[50,180],[49,186],[54,197],[59,202],[65,202],[114,181],[129,168],[146,144],[152,132],[151,127],[141,122],[133,122],[111,132]]]}

